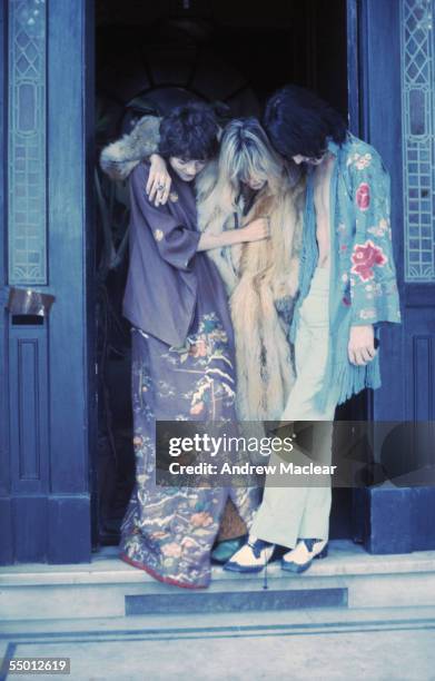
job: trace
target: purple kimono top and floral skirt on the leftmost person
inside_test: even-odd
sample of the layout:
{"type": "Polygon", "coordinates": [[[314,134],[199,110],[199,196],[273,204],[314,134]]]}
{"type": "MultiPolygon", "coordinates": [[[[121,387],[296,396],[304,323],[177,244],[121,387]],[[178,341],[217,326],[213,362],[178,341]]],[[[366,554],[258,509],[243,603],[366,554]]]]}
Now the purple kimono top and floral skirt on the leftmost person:
{"type": "Polygon", "coordinates": [[[159,487],[156,420],[235,421],[235,349],[224,284],[197,253],[194,188],[175,172],[166,206],[130,176],[130,267],[123,313],[132,323],[136,486],[122,523],[121,559],[186,588],[210,580],[210,551],[228,496],[249,527],[258,491],[159,487]]]}

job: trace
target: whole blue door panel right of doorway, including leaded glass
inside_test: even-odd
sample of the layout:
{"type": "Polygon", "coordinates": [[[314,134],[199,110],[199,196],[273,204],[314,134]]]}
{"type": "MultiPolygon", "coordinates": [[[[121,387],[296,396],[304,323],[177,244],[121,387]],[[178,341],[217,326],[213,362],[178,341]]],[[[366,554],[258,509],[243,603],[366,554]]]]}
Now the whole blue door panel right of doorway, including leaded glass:
{"type": "MultiPolygon", "coordinates": [[[[373,394],[370,414],[375,421],[418,423],[421,428],[413,440],[402,436],[392,447],[375,447],[377,462],[384,465],[389,457],[392,472],[399,475],[434,464],[435,3],[350,3],[358,8],[360,134],[378,149],[392,178],[392,230],[403,314],[401,326],[382,332],[383,387],[373,394]]],[[[435,487],[421,480],[419,486],[366,490],[362,527],[370,551],[435,549],[431,521],[435,487]]]]}

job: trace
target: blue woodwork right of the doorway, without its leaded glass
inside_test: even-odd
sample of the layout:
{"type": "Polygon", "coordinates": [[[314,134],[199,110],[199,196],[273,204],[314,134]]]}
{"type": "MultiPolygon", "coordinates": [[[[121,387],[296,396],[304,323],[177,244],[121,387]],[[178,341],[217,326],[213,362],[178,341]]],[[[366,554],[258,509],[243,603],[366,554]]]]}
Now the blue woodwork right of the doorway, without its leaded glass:
{"type": "MultiPolygon", "coordinates": [[[[358,99],[350,112],[359,135],[382,155],[392,178],[392,229],[403,324],[382,332],[383,386],[369,395],[374,421],[435,418],[435,286],[404,277],[404,187],[401,73],[401,2],[348,0],[357,20],[358,99]],[[417,377],[424,376],[422,386],[417,377]]],[[[421,455],[409,451],[415,461],[421,455]]],[[[394,485],[355,491],[358,539],[373,553],[435,549],[435,488],[394,485]]]]}

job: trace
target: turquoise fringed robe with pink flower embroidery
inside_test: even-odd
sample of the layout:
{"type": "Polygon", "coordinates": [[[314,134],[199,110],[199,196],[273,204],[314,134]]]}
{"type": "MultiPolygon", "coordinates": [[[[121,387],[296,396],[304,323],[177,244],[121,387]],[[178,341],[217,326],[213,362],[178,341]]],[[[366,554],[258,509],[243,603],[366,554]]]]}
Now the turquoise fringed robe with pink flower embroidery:
{"type": "MultiPolygon", "coordinates": [[[[401,322],[389,221],[389,176],[380,156],[366,142],[347,134],[338,146],[330,180],[329,356],[323,389],[315,396],[325,408],[330,391],[342,404],[365,387],[380,386],[379,356],[366,366],[350,364],[347,355],[350,326],[401,322]]],[[[307,182],[299,298],[290,329],[295,342],[301,303],[309,292],[318,260],[314,168],[307,182]]]]}

